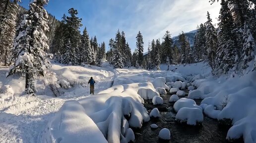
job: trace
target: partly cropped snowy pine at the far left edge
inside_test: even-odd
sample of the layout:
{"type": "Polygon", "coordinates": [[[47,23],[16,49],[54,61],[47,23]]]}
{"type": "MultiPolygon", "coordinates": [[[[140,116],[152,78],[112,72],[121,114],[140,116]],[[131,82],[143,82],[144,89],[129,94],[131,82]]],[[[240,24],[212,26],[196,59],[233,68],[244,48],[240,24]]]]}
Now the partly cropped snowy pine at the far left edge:
{"type": "Polygon", "coordinates": [[[4,2],[3,12],[0,14],[0,62],[3,61],[7,66],[8,55],[13,46],[13,37],[15,36],[15,26],[17,20],[17,2],[20,0],[6,0],[4,2]]]}

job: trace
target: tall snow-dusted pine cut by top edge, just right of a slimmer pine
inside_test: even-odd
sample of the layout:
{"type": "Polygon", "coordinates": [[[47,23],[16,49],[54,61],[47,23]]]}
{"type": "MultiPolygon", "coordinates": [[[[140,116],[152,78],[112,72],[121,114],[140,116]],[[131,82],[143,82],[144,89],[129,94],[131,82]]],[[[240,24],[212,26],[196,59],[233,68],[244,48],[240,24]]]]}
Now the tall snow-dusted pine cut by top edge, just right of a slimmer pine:
{"type": "Polygon", "coordinates": [[[236,37],[232,31],[234,22],[231,11],[228,7],[228,2],[221,0],[221,9],[219,16],[219,34],[218,34],[218,49],[216,59],[217,74],[228,73],[236,65],[236,37]]]}

